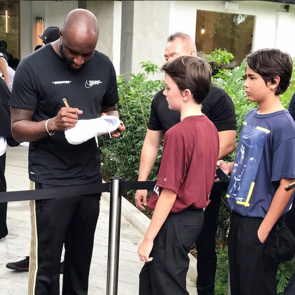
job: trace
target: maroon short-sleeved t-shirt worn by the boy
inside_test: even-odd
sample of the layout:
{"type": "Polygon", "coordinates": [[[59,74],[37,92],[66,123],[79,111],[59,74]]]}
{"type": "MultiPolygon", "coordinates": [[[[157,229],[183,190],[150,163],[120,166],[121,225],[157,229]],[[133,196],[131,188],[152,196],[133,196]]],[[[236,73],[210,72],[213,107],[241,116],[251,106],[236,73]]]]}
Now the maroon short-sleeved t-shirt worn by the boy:
{"type": "Polygon", "coordinates": [[[204,208],[214,183],[219,153],[218,132],[205,116],[190,116],[170,128],[164,137],[158,181],[148,200],[154,210],[162,188],[177,194],[171,213],[204,208]]]}

